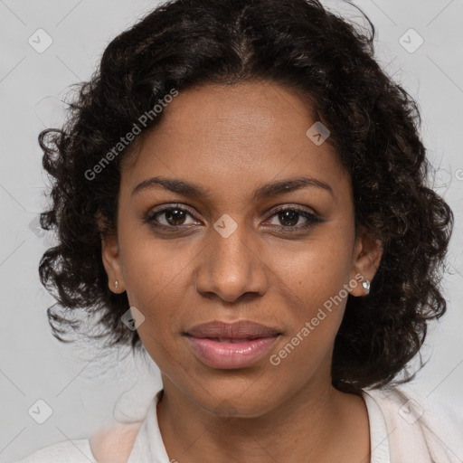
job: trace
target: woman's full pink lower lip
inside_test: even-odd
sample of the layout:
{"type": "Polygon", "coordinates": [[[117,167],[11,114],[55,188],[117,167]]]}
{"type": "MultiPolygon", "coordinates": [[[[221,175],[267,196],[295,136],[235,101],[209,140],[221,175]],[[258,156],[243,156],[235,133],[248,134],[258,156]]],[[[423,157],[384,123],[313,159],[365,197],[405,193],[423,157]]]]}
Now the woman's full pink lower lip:
{"type": "Polygon", "coordinates": [[[186,337],[204,364],[223,369],[244,368],[254,364],[278,339],[278,336],[271,336],[236,343],[220,343],[207,337],[186,337]]]}

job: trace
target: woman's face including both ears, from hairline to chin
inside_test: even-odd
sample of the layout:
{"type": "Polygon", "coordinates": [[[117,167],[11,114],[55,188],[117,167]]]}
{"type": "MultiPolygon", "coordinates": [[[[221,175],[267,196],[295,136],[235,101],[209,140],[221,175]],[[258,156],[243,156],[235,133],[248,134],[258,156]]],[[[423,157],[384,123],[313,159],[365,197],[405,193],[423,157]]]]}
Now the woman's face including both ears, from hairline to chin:
{"type": "Polygon", "coordinates": [[[122,170],[103,260],[145,317],[165,388],[242,416],[326,390],[346,289],[364,296],[379,260],[379,244],[354,235],[349,175],[307,104],[275,83],[180,91],[164,111],[122,170]],[[271,330],[222,335],[246,337],[234,343],[192,330],[242,320],[271,330]]]}

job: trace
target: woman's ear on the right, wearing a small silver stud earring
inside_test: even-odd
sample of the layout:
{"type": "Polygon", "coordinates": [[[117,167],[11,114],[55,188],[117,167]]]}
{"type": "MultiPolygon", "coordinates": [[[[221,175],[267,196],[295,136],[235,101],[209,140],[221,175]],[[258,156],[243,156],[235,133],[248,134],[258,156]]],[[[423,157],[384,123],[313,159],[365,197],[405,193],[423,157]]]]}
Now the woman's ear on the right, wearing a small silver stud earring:
{"type": "Polygon", "coordinates": [[[355,239],[353,265],[350,280],[350,293],[353,296],[366,296],[368,289],[362,283],[373,281],[376,270],[380,266],[383,256],[383,245],[375,239],[371,232],[359,226],[355,239]]]}

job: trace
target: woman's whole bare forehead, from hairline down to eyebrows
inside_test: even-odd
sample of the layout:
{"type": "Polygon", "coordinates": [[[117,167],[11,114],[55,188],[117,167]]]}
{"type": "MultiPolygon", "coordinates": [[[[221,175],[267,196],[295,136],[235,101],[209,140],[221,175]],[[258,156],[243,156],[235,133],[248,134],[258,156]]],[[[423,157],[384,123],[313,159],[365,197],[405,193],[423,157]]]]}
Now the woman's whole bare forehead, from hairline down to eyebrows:
{"type": "Polygon", "coordinates": [[[236,192],[311,175],[345,194],[350,181],[333,146],[307,136],[320,123],[312,113],[297,90],[273,82],[180,91],[144,134],[123,177],[134,187],[149,175],[164,175],[236,192]]]}

